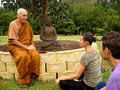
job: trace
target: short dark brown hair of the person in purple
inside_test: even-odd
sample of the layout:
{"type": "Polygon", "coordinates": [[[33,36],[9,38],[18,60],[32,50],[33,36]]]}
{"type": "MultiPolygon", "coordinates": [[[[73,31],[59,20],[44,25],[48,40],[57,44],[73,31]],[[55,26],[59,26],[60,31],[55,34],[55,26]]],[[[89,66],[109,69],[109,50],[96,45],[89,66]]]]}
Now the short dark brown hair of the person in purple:
{"type": "Polygon", "coordinates": [[[103,50],[107,47],[113,58],[120,59],[120,33],[112,31],[102,37],[103,50]]]}

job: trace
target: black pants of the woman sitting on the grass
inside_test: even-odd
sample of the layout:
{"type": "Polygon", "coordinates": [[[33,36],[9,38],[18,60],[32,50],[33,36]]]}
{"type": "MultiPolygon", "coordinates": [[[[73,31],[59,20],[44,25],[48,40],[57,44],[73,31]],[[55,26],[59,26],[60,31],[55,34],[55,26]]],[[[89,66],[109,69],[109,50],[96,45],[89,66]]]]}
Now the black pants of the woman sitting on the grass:
{"type": "Polygon", "coordinates": [[[83,81],[60,80],[59,86],[62,90],[94,90],[83,81]]]}

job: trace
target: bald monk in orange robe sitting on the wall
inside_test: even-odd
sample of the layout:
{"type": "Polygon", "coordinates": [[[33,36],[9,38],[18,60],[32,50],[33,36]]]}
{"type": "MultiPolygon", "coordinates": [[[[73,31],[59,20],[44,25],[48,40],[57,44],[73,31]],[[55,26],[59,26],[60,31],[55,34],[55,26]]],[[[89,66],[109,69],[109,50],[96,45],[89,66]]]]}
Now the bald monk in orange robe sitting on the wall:
{"type": "Polygon", "coordinates": [[[40,56],[33,43],[33,31],[27,15],[27,10],[20,8],[17,19],[10,23],[8,30],[8,49],[15,58],[20,87],[28,87],[31,79],[37,79],[40,72],[40,56]]]}

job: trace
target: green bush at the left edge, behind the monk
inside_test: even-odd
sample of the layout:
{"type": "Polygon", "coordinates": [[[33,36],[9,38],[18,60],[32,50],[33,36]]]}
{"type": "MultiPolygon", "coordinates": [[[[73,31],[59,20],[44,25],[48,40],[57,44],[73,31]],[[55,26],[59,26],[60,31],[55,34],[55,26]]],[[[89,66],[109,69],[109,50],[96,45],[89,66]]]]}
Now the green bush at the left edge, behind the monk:
{"type": "Polygon", "coordinates": [[[3,13],[0,15],[0,34],[6,35],[9,23],[16,17],[13,13],[3,13]]]}

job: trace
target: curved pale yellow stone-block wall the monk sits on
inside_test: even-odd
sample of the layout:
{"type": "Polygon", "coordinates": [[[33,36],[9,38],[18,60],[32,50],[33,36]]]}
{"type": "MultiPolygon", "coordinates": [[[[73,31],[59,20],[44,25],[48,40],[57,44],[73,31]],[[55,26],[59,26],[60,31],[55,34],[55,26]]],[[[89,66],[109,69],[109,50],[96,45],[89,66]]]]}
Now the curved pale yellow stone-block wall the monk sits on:
{"type": "MultiPolygon", "coordinates": [[[[93,47],[97,48],[96,46],[93,47]]],[[[40,78],[50,80],[61,75],[74,73],[84,53],[84,48],[40,53],[40,78]]],[[[18,77],[14,58],[9,52],[0,52],[0,76],[4,79],[17,79],[18,77]]]]}

